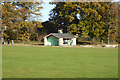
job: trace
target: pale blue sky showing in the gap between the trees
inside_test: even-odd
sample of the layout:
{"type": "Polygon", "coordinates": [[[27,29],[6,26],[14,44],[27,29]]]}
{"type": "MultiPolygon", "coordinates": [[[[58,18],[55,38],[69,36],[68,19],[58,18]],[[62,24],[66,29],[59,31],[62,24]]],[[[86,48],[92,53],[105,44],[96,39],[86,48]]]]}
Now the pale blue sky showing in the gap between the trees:
{"type": "MultiPolygon", "coordinates": [[[[40,11],[42,13],[41,22],[45,22],[45,21],[49,20],[49,13],[50,13],[51,9],[53,9],[55,7],[55,5],[49,4],[49,2],[52,0],[43,0],[43,1],[44,1],[44,3],[42,4],[43,9],[41,9],[41,11],[40,11]]],[[[114,0],[114,1],[117,2],[120,0],[114,0]]]]}

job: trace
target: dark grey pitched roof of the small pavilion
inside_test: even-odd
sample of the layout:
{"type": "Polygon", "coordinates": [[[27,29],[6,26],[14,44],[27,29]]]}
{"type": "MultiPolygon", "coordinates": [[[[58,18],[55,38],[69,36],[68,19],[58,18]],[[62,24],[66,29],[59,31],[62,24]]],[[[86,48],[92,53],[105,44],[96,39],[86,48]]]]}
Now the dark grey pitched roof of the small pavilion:
{"type": "Polygon", "coordinates": [[[68,33],[50,33],[45,37],[48,37],[50,35],[53,35],[53,36],[55,36],[57,38],[75,38],[73,35],[68,34],[68,33]]]}

